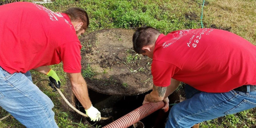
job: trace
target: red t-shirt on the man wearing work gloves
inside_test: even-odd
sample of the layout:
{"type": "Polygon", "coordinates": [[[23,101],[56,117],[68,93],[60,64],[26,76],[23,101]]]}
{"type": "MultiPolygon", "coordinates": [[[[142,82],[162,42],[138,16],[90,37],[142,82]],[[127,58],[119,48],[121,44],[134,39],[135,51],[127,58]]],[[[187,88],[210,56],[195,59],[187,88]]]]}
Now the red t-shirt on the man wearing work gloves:
{"type": "Polygon", "coordinates": [[[66,14],[16,2],[0,6],[0,16],[0,66],[7,72],[61,61],[65,72],[81,72],[81,44],[66,14]]]}

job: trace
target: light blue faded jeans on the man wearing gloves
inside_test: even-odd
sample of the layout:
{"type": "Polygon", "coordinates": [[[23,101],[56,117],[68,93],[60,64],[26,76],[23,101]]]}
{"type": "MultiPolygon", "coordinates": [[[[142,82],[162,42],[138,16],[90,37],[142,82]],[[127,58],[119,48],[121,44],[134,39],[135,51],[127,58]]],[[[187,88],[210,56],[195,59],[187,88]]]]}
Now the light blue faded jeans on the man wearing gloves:
{"type": "Polygon", "coordinates": [[[0,67],[0,106],[27,128],[58,128],[52,100],[33,84],[31,74],[0,67]]]}

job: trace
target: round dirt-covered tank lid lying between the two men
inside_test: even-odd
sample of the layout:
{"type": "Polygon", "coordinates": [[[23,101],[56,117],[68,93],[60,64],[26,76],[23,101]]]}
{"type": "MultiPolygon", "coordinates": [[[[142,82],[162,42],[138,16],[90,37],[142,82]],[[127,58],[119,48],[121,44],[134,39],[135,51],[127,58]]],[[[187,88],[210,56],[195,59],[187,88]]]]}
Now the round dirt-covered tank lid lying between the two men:
{"type": "Polygon", "coordinates": [[[80,38],[82,74],[89,89],[107,95],[137,95],[152,89],[150,58],[133,51],[133,30],[103,29],[80,38]],[[88,76],[88,75],[87,75],[88,76]]]}

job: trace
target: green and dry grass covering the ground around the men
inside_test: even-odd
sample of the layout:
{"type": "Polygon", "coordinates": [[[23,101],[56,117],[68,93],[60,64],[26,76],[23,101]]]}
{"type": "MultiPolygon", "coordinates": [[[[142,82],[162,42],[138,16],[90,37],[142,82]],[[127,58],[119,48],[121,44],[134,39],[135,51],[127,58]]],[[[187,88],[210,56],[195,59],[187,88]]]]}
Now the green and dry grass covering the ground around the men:
{"type": "MultiPolygon", "coordinates": [[[[68,7],[74,6],[84,8],[90,18],[87,34],[106,28],[134,29],[143,25],[155,27],[167,34],[178,29],[200,28],[202,2],[203,0],[53,0],[52,3],[43,5],[54,12],[62,12],[68,7]]],[[[229,30],[255,45],[255,7],[255,0],[206,0],[203,16],[204,27],[229,30]]],[[[122,39],[120,38],[120,40],[122,39]]],[[[128,57],[128,61],[134,61],[134,58],[128,57]]],[[[62,64],[58,64],[51,68],[56,71],[63,86],[66,85],[66,73],[63,72],[62,66],[62,64]]],[[[86,71],[83,71],[83,73],[85,76],[93,76],[91,72],[86,74],[86,71]]],[[[34,82],[40,78],[47,78],[35,71],[32,71],[32,75],[34,82]]],[[[64,112],[60,108],[60,95],[57,92],[52,92],[47,83],[41,82],[38,87],[52,99],[55,105],[53,108],[56,114],[55,120],[60,128],[89,127],[89,125],[75,120],[71,113],[64,112]]],[[[254,108],[205,121],[200,124],[200,128],[256,127],[255,111],[254,108]]],[[[7,114],[0,108],[0,118],[7,114]]],[[[96,125],[93,126],[96,127],[96,125]]],[[[0,128],[24,128],[24,126],[13,117],[8,117],[0,122],[0,128]]]]}

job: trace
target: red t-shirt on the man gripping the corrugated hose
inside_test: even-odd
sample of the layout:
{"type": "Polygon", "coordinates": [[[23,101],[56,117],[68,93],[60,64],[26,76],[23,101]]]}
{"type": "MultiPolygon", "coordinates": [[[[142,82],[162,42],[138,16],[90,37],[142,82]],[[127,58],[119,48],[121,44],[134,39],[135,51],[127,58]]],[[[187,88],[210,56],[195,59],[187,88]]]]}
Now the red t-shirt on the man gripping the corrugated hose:
{"type": "Polygon", "coordinates": [[[178,30],[156,40],[152,75],[156,86],[171,78],[203,92],[228,92],[256,85],[256,46],[228,31],[178,30]]]}

